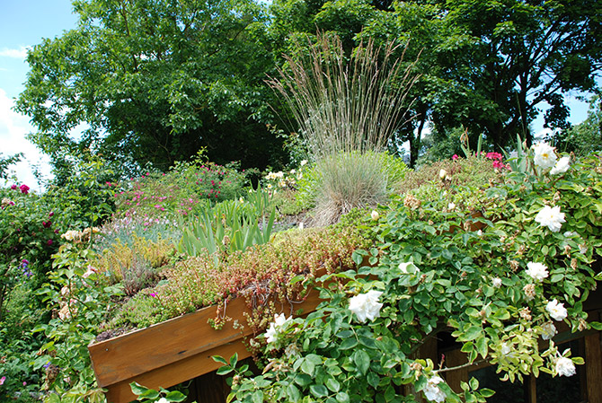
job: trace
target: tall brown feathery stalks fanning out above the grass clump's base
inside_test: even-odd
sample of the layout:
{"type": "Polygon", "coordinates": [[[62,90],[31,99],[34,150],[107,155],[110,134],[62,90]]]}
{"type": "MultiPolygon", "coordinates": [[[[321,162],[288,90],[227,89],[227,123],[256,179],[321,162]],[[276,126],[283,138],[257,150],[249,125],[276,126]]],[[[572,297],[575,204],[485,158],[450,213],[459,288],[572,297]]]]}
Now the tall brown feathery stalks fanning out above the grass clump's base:
{"type": "Polygon", "coordinates": [[[314,161],[386,149],[418,78],[403,52],[395,57],[399,51],[393,42],[377,48],[370,39],[348,57],[338,36],[320,34],[307,52],[285,56],[288,69],[268,83],[293,112],[314,161]]]}

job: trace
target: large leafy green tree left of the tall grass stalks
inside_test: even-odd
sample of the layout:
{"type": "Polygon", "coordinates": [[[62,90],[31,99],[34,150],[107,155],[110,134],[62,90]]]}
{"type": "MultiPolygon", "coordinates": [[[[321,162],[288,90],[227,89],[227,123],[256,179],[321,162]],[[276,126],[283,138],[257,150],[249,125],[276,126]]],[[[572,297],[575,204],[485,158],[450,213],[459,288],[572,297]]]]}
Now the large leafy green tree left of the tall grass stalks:
{"type": "Polygon", "coordinates": [[[89,148],[166,169],[207,147],[217,162],[281,158],[266,128],[273,68],[261,5],[235,1],[74,2],[78,28],[31,50],[17,109],[53,156],[89,148]],[[89,126],[81,139],[70,130],[89,126]]]}

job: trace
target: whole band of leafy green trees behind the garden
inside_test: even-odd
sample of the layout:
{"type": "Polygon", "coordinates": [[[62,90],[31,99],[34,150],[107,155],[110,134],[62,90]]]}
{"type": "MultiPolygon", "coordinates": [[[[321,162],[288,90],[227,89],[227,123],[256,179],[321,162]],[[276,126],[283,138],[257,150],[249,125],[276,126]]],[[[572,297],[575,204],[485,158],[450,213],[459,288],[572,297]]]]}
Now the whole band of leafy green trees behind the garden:
{"type": "Polygon", "coordinates": [[[275,166],[286,155],[271,128],[289,112],[264,80],[286,68],[283,54],[306,51],[297,39],[327,31],[348,52],[369,38],[408,43],[406,60],[420,55],[415,118],[394,134],[396,144],[410,141],[412,164],[429,125],[441,136],[463,126],[501,149],[517,134],[532,141],[544,103],[546,125],[567,127],[563,94],[595,88],[595,3],[77,0],[78,27],[31,50],[16,108],[56,163],[65,150],[89,149],[165,169],[206,147],[216,162],[275,166]],[[69,136],[83,123],[81,138],[69,136]]]}

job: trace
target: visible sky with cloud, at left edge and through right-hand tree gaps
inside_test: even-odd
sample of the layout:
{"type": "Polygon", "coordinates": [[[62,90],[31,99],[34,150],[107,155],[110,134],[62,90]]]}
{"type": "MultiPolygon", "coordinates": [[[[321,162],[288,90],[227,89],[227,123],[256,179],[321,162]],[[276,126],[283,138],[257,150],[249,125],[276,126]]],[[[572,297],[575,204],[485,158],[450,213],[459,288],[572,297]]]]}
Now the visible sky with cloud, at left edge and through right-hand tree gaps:
{"type": "MultiPolygon", "coordinates": [[[[49,172],[47,159],[25,139],[34,131],[29,118],[12,110],[13,98],[22,92],[29,66],[26,49],[55,38],[63,31],[75,28],[76,16],[71,0],[0,0],[0,153],[25,153],[25,162],[11,167],[19,182],[40,188],[34,180],[31,166],[39,165],[49,172]]],[[[587,116],[587,104],[571,99],[571,122],[580,123],[587,116]]],[[[541,132],[543,114],[533,127],[541,132]]]]}

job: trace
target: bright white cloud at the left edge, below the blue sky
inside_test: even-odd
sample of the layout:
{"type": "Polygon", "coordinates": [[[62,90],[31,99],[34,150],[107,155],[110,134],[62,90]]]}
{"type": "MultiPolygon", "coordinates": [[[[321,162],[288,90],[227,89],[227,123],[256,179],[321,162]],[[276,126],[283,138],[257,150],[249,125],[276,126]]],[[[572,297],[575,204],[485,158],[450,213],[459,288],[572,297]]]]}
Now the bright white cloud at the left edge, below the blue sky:
{"type": "Polygon", "coordinates": [[[49,177],[49,158],[25,138],[35,130],[29,118],[13,111],[12,108],[13,100],[0,88],[0,153],[4,156],[23,153],[22,162],[11,165],[9,171],[13,171],[20,183],[40,190],[40,183],[33,176],[33,167],[39,166],[44,177],[49,177]]]}

